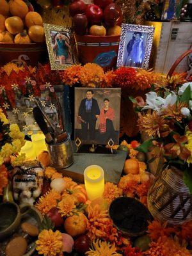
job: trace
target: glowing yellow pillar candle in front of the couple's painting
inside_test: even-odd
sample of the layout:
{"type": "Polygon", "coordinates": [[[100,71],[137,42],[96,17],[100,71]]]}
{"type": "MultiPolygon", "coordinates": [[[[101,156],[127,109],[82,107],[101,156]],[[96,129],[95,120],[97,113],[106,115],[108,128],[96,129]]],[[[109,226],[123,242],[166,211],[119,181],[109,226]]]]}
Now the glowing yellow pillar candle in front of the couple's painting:
{"type": "Polygon", "coordinates": [[[104,170],[90,165],[84,170],[84,186],[89,200],[102,196],[104,192],[104,170]]]}

